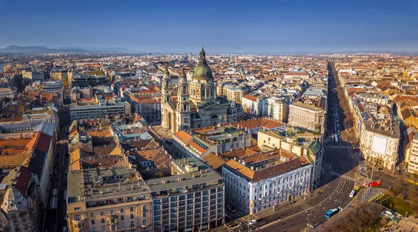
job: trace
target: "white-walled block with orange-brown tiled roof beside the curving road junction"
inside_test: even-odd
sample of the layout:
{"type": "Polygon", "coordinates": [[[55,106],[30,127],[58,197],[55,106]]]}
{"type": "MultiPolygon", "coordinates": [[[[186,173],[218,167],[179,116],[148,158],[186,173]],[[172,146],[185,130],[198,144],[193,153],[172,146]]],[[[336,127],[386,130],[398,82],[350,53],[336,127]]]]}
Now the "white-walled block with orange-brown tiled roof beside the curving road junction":
{"type": "Polygon", "coordinates": [[[287,160],[289,155],[279,150],[229,160],[222,167],[226,204],[252,215],[308,194],[312,164],[303,156],[287,160]]]}

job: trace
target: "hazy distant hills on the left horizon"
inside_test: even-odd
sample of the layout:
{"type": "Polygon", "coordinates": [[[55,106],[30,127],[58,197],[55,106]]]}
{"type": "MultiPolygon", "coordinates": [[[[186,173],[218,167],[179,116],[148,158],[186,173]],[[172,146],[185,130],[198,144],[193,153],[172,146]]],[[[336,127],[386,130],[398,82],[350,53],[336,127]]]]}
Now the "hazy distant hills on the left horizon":
{"type": "Polygon", "coordinates": [[[123,47],[46,47],[10,45],[0,49],[0,53],[138,53],[123,47]]]}

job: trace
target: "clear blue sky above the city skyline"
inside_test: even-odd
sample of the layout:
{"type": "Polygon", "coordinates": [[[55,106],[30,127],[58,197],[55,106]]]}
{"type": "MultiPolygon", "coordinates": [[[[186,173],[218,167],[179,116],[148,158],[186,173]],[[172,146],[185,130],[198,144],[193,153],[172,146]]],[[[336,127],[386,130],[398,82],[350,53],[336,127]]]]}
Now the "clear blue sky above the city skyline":
{"type": "Polygon", "coordinates": [[[149,52],[418,51],[418,3],[353,1],[6,1],[0,47],[149,52]]]}

